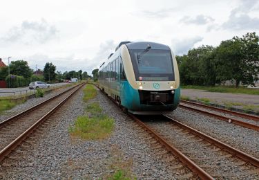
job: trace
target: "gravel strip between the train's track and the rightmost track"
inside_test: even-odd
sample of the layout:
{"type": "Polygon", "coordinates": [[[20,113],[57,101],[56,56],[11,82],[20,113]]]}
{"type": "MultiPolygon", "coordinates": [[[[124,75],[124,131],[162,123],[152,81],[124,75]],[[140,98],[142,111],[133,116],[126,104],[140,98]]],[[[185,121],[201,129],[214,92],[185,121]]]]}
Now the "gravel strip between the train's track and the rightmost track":
{"type": "Polygon", "coordinates": [[[170,116],[238,150],[259,158],[259,132],[253,129],[240,127],[182,108],[176,109],[170,116]]]}

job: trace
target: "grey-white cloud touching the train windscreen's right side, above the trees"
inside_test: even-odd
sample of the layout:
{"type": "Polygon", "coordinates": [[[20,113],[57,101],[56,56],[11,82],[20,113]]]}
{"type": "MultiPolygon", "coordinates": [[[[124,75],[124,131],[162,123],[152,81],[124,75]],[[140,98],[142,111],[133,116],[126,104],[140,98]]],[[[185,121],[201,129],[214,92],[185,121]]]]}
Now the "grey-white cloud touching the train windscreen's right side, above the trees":
{"type": "Polygon", "coordinates": [[[172,47],[175,55],[183,55],[186,54],[193,46],[201,42],[203,37],[196,36],[186,39],[173,39],[172,47]]]}

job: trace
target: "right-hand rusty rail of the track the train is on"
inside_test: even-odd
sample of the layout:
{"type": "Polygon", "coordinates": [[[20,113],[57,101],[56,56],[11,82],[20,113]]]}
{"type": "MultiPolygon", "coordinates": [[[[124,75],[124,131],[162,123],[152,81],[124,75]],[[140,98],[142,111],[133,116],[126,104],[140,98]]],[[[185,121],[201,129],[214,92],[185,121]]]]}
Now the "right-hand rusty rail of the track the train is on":
{"type": "Polygon", "coordinates": [[[259,159],[256,159],[255,157],[253,157],[249,154],[246,154],[240,150],[237,150],[236,148],[231,147],[230,145],[222,143],[211,136],[208,136],[202,132],[199,132],[196,129],[193,129],[192,127],[184,125],[183,123],[180,123],[178,120],[175,120],[175,119],[171,118],[170,116],[167,116],[167,115],[163,115],[163,116],[168,118],[169,120],[171,120],[172,123],[175,123],[176,125],[182,127],[183,129],[189,130],[191,133],[195,134],[196,136],[199,136],[200,138],[204,139],[205,141],[208,141],[209,143],[212,143],[212,144],[220,147],[222,150],[226,150],[230,154],[238,156],[243,161],[249,162],[259,168],[259,159]]]}

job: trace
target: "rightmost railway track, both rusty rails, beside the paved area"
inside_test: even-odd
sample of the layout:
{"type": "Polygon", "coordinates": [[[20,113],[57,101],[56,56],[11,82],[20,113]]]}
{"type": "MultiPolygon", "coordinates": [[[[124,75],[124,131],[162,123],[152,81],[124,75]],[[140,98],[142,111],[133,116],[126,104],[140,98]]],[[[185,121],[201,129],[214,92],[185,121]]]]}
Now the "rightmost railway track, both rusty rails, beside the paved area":
{"type": "Polygon", "coordinates": [[[221,109],[218,107],[211,107],[207,105],[202,105],[196,102],[190,102],[186,100],[181,100],[179,107],[184,109],[189,109],[191,111],[196,111],[201,114],[206,114],[219,120],[224,120],[228,123],[233,123],[242,127],[253,129],[259,131],[259,117],[251,116],[249,114],[242,114],[236,111],[229,111],[227,109],[221,109]],[[224,115],[222,115],[224,114],[224,115]]]}

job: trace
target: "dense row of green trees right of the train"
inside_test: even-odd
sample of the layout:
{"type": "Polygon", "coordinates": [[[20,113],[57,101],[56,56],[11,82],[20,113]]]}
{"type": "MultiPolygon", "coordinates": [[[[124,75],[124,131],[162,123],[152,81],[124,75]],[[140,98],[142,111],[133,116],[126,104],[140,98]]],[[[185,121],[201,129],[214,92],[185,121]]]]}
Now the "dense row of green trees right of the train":
{"type": "Polygon", "coordinates": [[[258,43],[256,33],[247,33],[216,47],[202,45],[177,55],[181,84],[215,86],[230,81],[236,87],[254,86],[259,74],[258,43]]]}

